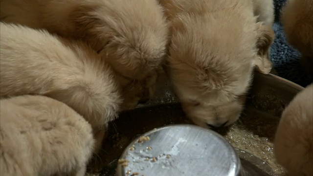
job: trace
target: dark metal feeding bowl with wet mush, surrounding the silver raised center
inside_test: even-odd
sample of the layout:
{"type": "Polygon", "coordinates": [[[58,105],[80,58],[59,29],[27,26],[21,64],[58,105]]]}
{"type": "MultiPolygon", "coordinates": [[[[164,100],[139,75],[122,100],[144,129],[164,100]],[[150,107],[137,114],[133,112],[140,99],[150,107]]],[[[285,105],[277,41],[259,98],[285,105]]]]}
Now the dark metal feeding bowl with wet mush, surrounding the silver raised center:
{"type": "MultiPolygon", "coordinates": [[[[118,158],[135,138],[171,124],[193,124],[183,113],[164,74],[158,78],[157,86],[155,98],[134,110],[121,113],[110,124],[103,152],[89,164],[89,173],[115,176],[118,158]]],[[[275,162],[272,141],[282,111],[302,89],[281,77],[254,73],[242,116],[235,124],[216,130],[236,148],[241,163],[250,164],[248,169],[255,172],[258,169],[267,170],[271,176],[284,173],[275,162]],[[263,167],[264,164],[271,171],[263,167]]]]}

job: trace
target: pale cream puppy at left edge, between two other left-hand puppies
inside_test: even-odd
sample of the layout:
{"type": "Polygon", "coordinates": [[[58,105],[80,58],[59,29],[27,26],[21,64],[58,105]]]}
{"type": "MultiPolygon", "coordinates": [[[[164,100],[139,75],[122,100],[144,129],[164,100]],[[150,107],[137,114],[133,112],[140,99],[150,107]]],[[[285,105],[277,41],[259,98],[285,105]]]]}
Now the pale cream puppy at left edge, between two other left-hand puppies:
{"type": "Polygon", "coordinates": [[[112,69],[83,43],[45,30],[0,24],[0,96],[45,95],[81,114],[97,131],[117,117],[112,69]]]}

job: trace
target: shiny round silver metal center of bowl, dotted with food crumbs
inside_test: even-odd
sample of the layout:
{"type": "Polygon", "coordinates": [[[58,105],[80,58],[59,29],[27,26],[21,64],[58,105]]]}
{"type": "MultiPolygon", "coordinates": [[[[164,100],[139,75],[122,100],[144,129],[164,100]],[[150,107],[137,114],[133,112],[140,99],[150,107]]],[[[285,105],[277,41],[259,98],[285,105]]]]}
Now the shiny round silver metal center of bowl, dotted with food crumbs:
{"type": "Polygon", "coordinates": [[[170,125],[136,138],[121,155],[116,176],[240,176],[240,159],[220,134],[170,125]]]}

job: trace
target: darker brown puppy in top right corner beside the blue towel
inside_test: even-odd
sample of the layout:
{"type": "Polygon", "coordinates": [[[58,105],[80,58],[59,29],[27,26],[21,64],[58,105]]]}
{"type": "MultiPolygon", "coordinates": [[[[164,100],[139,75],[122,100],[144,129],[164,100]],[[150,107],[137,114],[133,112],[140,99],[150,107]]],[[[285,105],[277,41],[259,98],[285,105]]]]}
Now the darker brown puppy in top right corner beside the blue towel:
{"type": "Polygon", "coordinates": [[[288,0],[281,13],[287,41],[302,54],[313,75],[313,0],[288,0]]]}

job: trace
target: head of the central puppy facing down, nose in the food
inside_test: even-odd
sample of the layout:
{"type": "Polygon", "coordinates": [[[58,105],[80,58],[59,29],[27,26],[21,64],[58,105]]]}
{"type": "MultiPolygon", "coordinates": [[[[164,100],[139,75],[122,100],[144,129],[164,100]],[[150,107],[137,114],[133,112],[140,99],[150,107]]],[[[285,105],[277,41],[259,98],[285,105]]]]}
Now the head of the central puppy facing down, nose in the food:
{"type": "Polygon", "coordinates": [[[206,128],[227,126],[239,118],[256,57],[252,24],[244,29],[208,24],[214,27],[185,26],[173,35],[164,66],[187,116],[206,128]]]}

